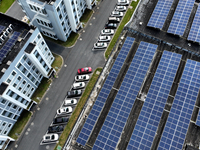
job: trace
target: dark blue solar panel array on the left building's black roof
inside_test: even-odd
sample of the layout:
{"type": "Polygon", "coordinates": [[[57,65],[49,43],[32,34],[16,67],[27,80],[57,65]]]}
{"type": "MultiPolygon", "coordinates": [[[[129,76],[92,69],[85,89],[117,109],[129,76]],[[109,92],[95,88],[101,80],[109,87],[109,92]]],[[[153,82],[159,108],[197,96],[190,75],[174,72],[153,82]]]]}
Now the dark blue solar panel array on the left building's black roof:
{"type": "Polygon", "coordinates": [[[8,51],[12,48],[12,46],[17,41],[17,38],[19,37],[21,33],[20,32],[14,32],[11,38],[8,39],[8,41],[5,43],[5,45],[0,50],[0,62],[4,59],[8,51]]]}

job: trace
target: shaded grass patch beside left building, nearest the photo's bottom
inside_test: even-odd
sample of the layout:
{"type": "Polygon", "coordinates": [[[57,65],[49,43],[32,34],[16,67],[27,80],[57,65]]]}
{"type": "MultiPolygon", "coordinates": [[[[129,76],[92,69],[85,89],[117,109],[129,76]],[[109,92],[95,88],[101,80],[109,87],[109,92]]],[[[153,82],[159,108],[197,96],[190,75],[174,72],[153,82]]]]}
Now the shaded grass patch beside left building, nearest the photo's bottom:
{"type": "Polygon", "coordinates": [[[22,130],[24,129],[30,117],[31,117],[31,113],[24,109],[19,119],[17,120],[15,125],[12,127],[8,136],[16,140],[18,136],[21,134],[22,130]]]}

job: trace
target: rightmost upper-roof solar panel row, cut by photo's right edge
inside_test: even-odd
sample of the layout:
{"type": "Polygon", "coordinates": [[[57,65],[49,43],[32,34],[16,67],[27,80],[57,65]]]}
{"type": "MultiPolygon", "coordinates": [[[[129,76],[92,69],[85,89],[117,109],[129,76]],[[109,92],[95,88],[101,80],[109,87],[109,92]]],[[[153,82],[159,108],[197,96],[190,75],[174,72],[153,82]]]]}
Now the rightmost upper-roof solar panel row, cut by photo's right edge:
{"type": "Polygon", "coordinates": [[[200,7],[198,7],[196,15],[194,17],[188,40],[200,43],[200,7]]]}

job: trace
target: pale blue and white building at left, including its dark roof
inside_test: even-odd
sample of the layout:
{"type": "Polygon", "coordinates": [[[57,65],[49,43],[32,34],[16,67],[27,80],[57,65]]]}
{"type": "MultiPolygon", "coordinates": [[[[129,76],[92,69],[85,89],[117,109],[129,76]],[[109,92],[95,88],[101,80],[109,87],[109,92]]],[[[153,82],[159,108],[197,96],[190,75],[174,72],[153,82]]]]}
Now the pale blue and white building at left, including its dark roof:
{"type": "Polygon", "coordinates": [[[54,72],[53,61],[38,28],[0,13],[0,149],[13,140],[8,133],[42,78],[54,72]]]}

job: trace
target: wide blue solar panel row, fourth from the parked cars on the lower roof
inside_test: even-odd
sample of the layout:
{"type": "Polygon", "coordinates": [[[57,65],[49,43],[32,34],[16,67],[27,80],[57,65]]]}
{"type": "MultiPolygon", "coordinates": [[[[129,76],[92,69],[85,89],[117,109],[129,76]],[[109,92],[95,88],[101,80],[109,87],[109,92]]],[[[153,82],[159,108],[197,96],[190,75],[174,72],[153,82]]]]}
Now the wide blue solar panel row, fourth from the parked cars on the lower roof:
{"type": "Polygon", "coordinates": [[[200,63],[187,60],[158,150],[182,149],[199,88],[200,63]]]}

